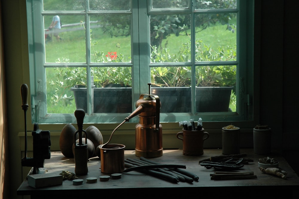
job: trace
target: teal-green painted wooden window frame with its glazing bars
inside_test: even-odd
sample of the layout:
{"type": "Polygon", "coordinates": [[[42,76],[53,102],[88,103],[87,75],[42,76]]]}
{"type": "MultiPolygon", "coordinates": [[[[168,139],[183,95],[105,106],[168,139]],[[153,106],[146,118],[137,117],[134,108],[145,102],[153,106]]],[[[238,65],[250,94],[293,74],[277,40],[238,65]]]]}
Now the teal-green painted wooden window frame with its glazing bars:
{"type": "MultiPolygon", "coordinates": [[[[146,31],[145,34],[139,34],[138,30],[149,30],[149,14],[158,14],[164,13],[165,9],[151,9],[150,0],[148,1],[131,1],[131,11],[117,11],[119,14],[129,13],[131,14],[132,21],[132,63],[121,63],[122,66],[132,66],[132,106],[135,107],[135,102],[139,99],[139,95],[141,93],[148,92],[147,83],[141,83],[141,80],[147,80],[150,82],[150,67],[156,66],[165,66],[165,65],[173,65],[182,63],[150,63],[149,56],[139,55],[139,51],[145,51],[146,54],[149,54],[149,31],[146,31]],[[146,13],[146,17],[144,17],[144,13],[146,13]],[[137,24],[138,28],[135,28],[137,24]],[[147,45],[142,45],[142,44],[147,45]],[[149,67],[144,67],[144,63],[147,63],[149,67]]],[[[196,113],[195,112],[195,102],[192,103],[192,113],[160,113],[161,122],[167,122],[164,118],[168,118],[168,121],[177,122],[184,121],[188,119],[194,119],[197,117],[201,117],[203,121],[207,122],[250,122],[257,121],[257,116],[253,118],[253,86],[256,88],[257,85],[253,85],[254,83],[251,81],[253,79],[253,43],[254,43],[254,1],[248,0],[246,3],[239,3],[237,12],[244,13],[239,16],[239,20],[237,23],[238,32],[240,32],[237,37],[237,43],[239,42],[240,48],[237,48],[237,61],[233,63],[241,64],[244,66],[242,71],[237,73],[237,87],[236,90],[237,95],[237,112],[234,113],[196,113]],[[241,28],[242,24],[242,28],[241,28]],[[244,25],[245,24],[245,25],[244,25]],[[242,57],[240,59],[239,57],[242,57]]],[[[244,2],[244,1],[243,1],[244,2]]],[[[222,10],[191,10],[192,0],[189,0],[189,7],[182,9],[167,9],[168,11],[174,10],[178,13],[191,13],[194,15],[196,12],[222,12],[222,10]]],[[[88,4],[85,5],[88,7],[88,4]]],[[[232,11],[232,10],[231,10],[232,11]]],[[[236,12],[236,10],[233,10],[236,12]]],[[[45,88],[45,72],[42,72],[43,67],[40,66],[40,63],[44,63],[43,65],[46,67],[55,67],[55,64],[45,63],[42,59],[44,55],[44,47],[42,45],[44,33],[41,31],[40,27],[43,27],[42,17],[43,15],[73,15],[73,14],[82,14],[82,11],[42,11],[42,3],[40,1],[27,1],[27,16],[28,16],[28,42],[29,42],[29,66],[30,66],[30,96],[31,96],[31,120],[32,123],[38,122],[39,124],[66,124],[66,123],[77,123],[74,114],[47,114],[46,113],[46,88],[45,88]],[[34,7],[32,6],[34,5],[34,7]],[[34,24],[34,25],[33,25],[34,24]]],[[[96,14],[96,11],[88,11],[88,14],[96,14]]],[[[86,14],[87,18],[87,14],[86,14]]],[[[88,21],[86,19],[86,21],[88,21]]],[[[194,25],[194,22],[191,22],[194,25]]],[[[89,23],[86,23],[86,30],[89,30],[89,23]]],[[[193,29],[194,30],[194,29],[193,29]]],[[[191,41],[194,43],[194,34],[191,35],[191,41]]],[[[86,31],[86,55],[89,55],[89,31],[86,31]]],[[[191,44],[192,45],[192,44],[191,44]]],[[[194,46],[193,46],[194,47],[194,46]]],[[[194,49],[194,48],[193,48],[194,49]]],[[[144,53],[145,54],[145,53],[144,53]]],[[[89,59],[87,59],[89,60],[89,59]]],[[[193,53],[194,60],[194,53],[193,53]]],[[[119,65],[119,63],[117,63],[119,65]]],[[[192,63],[192,67],[201,65],[204,63],[192,63]]],[[[227,65],[228,62],[225,62],[227,65]]],[[[69,67],[87,67],[87,73],[90,73],[90,68],[88,66],[96,66],[95,63],[70,63],[69,67]]],[[[188,64],[190,65],[190,63],[188,64]]],[[[111,66],[111,65],[109,65],[111,66]]],[[[194,72],[192,76],[195,77],[194,72]]],[[[87,76],[87,84],[90,85],[90,75],[87,76]]],[[[195,85],[195,84],[193,84],[195,85]]],[[[195,96],[195,86],[192,86],[192,96],[195,96]]],[[[88,92],[91,92],[91,87],[88,86],[88,92]]],[[[88,98],[88,103],[90,103],[91,97],[88,98]]],[[[110,123],[108,120],[100,121],[98,118],[114,118],[112,123],[117,123],[123,121],[123,119],[127,116],[126,113],[91,113],[89,110],[84,118],[84,122],[86,123],[110,123]]],[[[129,122],[136,123],[138,122],[138,118],[132,118],[129,122]]]]}

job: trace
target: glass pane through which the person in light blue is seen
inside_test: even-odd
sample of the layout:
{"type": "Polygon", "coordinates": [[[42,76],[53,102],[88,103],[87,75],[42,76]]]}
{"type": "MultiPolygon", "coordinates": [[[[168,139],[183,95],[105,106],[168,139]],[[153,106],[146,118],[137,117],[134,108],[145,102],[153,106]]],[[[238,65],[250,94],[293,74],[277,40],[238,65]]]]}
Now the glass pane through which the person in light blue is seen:
{"type": "MultiPolygon", "coordinates": [[[[44,16],[45,62],[86,63],[84,16],[44,16]],[[53,21],[61,20],[52,27],[53,21]]],[[[55,22],[54,22],[55,23],[55,22]]]]}

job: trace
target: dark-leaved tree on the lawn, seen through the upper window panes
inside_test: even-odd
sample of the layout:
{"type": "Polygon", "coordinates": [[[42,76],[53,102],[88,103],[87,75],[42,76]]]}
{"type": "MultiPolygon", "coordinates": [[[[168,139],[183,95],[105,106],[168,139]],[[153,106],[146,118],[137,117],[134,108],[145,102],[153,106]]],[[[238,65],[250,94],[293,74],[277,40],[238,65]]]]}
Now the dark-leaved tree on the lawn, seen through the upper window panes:
{"type": "MultiPolygon", "coordinates": [[[[95,10],[105,10],[114,6],[114,10],[128,9],[129,1],[115,0],[113,5],[107,2],[107,5],[99,4],[97,1],[92,1],[90,6],[95,10]]],[[[169,8],[169,7],[187,7],[186,0],[159,0],[153,2],[153,8],[169,8]]],[[[195,0],[195,9],[200,10],[215,10],[215,9],[233,9],[237,7],[236,0],[195,0]]],[[[196,14],[195,25],[197,31],[203,31],[210,25],[220,23],[226,25],[226,30],[234,32],[234,24],[230,24],[233,13],[208,13],[208,14],[196,14]]],[[[109,33],[111,37],[128,36],[130,34],[129,16],[111,15],[105,17],[99,17],[99,23],[102,26],[104,33],[109,33]]],[[[187,30],[190,29],[190,14],[157,14],[150,16],[150,45],[160,47],[162,40],[166,39],[170,34],[186,35],[187,30]]]]}

